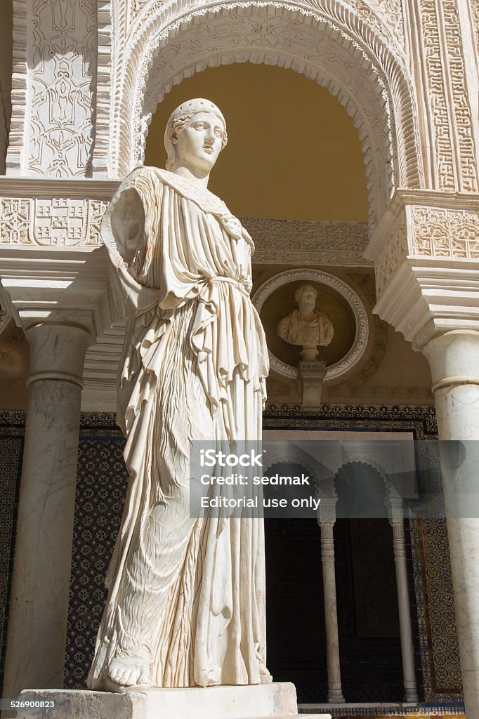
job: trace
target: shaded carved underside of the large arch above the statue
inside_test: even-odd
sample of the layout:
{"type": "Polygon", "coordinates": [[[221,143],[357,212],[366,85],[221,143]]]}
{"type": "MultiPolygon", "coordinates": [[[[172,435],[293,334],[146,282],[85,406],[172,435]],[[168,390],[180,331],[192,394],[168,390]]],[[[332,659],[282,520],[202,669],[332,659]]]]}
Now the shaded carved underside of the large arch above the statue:
{"type": "MultiPolygon", "coordinates": [[[[211,23],[205,23],[202,18],[194,20],[178,37],[170,39],[168,46],[152,60],[145,98],[138,96],[136,99],[138,114],[141,106],[143,108],[143,127],[150,122],[158,100],[178,80],[178,68],[185,68],[183,75],[191,73],[189,65],[193,58],[196,69],[233,62],[240,55],[261,62],[274,58],[278,48],[278,64],[293,67],[320,84],[329,86],[354,117],[360,129],[368,165],[368,189],[373,200],[370,205],[371,224],[375,224],[396,183],[391,162],[392,155],[397,155],[394,149],[396,141],[386,90],[377,75],[368,76],[364,73],[362,66],[358,66],[356,58],[351,56],[352,53],[346,47],[339,46],[335,40],[319,33],[318,28],[311,27],[305,17],[289,17],[288,22],[285,22],[285,13],[281,14],[279,10],[276,11],[276,17],[268,17],[263,9],[256,9],[250,10],[242,22],[230,16],[211,23]],[[186,62],[188,65],[185,66],[186,62]],[[357,95],[361,96],[360,111],[357,110],[357,95]],[[386,120],[390,128],[387,142],[385,120],[378,118],[379,107],[385,109],[386,117],[389,116],[389,122],[386,120]],[[371,151],[372,147],[375,152],[371,151]],[[381,171],[378,170],[379,166],[381,171]],[[385,167],[391,173],[387,181],[385,167]]],[[[135,136],[140,141],[136,148],[136,163],[141,161],[144,147],[144,135],[140,127],[135,136]]]]}

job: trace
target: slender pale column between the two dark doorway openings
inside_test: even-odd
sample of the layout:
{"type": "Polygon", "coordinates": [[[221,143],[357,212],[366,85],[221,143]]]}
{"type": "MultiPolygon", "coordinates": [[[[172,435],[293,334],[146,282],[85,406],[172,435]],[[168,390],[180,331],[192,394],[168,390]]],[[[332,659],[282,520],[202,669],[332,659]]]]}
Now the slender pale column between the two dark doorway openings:
{"type": "Polygon", "coordinates": [[[328,669],[328,702],[344,702],[339,661],[337,629],[336,572],[334,570],[334,535],[337,498],[321,498],[318,524],[321,530],[321,564],[323,569],[324,623],[328,669]]]}

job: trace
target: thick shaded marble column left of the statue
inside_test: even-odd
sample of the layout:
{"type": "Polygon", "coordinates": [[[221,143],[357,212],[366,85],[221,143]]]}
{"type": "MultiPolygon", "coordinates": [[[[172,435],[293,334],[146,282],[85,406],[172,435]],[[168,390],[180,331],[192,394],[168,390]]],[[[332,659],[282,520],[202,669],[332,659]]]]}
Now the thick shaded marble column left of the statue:
{"type": "Polygon", "coordinates": [[[30,347],[4,697],[62,687],[83,361],[81,326],[36,324],[30,347]]]}

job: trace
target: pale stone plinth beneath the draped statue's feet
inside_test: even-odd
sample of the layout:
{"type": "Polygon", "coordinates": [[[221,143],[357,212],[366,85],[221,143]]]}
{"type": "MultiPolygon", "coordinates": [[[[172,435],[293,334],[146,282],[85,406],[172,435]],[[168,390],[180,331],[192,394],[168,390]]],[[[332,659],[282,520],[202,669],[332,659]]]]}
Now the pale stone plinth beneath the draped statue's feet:
{"type": "MultiPolygon", "coordinates": [[[[247,687],[144,689],[113,694],[83,690],[25,690],[17,719],[298,719],[296,689],[290,682],[247,687]],[[35,706],[50,702],[49,707],[35,706]],[[53,706],[51,704],[53,702],[53,706]]],[[[331,719],[330,714],[309,719],[331,719]]]]}

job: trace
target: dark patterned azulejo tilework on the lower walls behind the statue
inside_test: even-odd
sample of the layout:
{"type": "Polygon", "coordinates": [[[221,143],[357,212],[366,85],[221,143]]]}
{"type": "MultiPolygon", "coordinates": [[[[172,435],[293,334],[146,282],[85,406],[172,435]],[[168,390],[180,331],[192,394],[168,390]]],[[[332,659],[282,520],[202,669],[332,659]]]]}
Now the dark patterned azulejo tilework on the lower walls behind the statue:
{"type": "MultiPolygon", "coordinates": [[[[0,566],[0,594],[7,610],[24,420],[24,413],[0,412],[0,513],[5,520],[0,530],[4,558],[0,566]]],[[[304,413],[298,405],[270,404],[264,424],[268,429],[364,429],[408,431],[415,439],[436,436],[434,407],[424,406],[325,405],[317,413],[304,413]]],[[[65,657],[65,687],[69,688],[85,686],[106,600],[104,577],[127,488],[123,446],[114,415],[82,415],[65,657]]],[[[441,518],[416,521],[411,517],[410,525],[424,700],[457,702],[461,698],[460,665],[447,527],[441,518]]],[[[5,639],[4,631],[2,657],[5,639]]]]}

